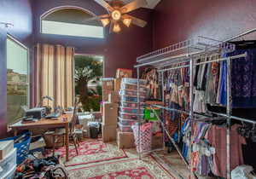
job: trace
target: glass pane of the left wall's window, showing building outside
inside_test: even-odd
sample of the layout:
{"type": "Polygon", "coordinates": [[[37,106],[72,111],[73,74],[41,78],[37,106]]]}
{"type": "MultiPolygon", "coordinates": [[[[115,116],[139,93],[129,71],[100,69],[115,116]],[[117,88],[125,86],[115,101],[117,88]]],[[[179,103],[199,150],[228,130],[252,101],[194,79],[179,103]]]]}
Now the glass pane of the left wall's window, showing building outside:
{"type": "Polygon", "coordinates": [[[22,117],[21,106],[28,106],[28,50],[7,39],[7,117],[12,124],[22,117]]]}

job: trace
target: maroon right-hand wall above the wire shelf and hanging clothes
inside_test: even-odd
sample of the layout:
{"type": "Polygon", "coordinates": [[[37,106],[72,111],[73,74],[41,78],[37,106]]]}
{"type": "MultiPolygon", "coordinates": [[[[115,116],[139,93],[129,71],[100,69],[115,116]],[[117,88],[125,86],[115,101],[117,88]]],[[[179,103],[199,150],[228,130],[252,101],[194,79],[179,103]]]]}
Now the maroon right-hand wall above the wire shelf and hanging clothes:
{"type": "Polygon", "coordinates": [[[197,35],[224,40],[256,27],[252,0],[162,0],[154,12],[154,49],[197,35]]]}

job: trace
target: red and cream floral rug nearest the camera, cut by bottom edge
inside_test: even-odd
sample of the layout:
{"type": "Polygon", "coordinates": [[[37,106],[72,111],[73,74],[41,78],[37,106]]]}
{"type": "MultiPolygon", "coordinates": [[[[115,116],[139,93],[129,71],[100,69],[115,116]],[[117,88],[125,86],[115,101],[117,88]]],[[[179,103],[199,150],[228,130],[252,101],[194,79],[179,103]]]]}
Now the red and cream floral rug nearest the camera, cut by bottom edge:
{"type": "Polygon", "coordinates": [[[175,179],[151,156],[69,170],[69,176],[71,179],[175,179]]]}

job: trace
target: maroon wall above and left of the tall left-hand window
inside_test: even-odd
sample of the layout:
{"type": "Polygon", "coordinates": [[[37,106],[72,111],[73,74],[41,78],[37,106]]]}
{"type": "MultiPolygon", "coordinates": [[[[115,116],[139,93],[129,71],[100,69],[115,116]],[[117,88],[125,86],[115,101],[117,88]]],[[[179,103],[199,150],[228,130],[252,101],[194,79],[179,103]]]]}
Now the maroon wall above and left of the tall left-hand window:
{"type": "Polygon", "coordinates": [[[13,36],[26,46],[32,45],[32,7],[29,0],[1,0],[0,21],[12,23],[6,29],[0,26],[0,137],[7,135],[6,94],[6,34],[13,36]]]}

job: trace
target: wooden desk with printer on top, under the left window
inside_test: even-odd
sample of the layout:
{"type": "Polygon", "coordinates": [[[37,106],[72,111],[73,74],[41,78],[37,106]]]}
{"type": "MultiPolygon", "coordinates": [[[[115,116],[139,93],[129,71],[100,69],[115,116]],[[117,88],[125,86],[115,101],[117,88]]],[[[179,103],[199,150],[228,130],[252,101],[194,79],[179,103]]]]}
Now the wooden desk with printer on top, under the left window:
{"type": "Polygon", "coordinates": [[[73,113],[67,113],[62,114],[57,119],[47,119],[47,118],[41,118],[35,123],[27,123],[22,124],[21,121],[12,124],[9,126],[12,130],[15,131],[15,136],[17,136],[18,130],[31,130],[31,129],[37,129],[37,128],[57,128],[57,127],[63,127],[66,130],[66,160],[68,161],[68,147],[69,147],[69,123],[72,122],[73,113]],[[66,121],[63,120],[63,118],[67,118],[66,121]]]}

